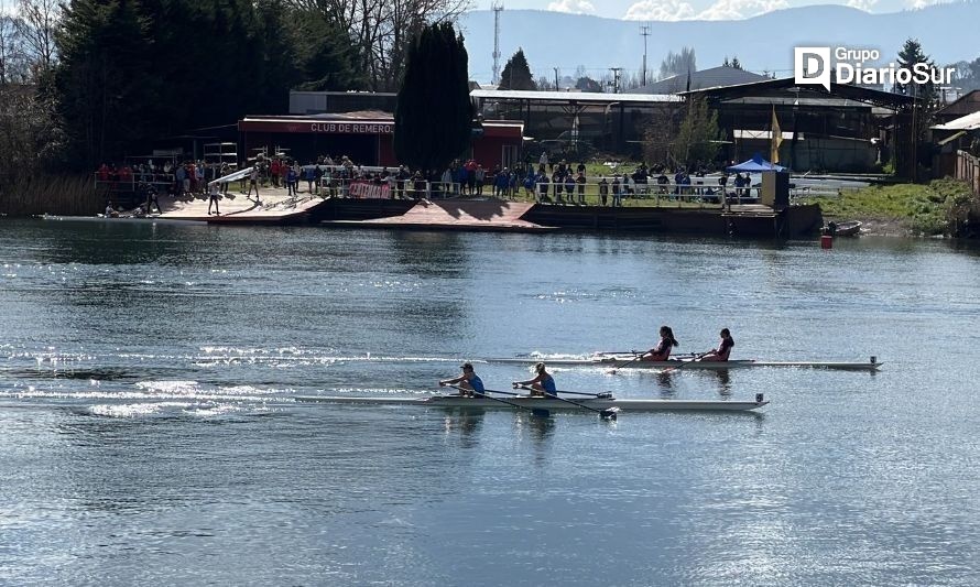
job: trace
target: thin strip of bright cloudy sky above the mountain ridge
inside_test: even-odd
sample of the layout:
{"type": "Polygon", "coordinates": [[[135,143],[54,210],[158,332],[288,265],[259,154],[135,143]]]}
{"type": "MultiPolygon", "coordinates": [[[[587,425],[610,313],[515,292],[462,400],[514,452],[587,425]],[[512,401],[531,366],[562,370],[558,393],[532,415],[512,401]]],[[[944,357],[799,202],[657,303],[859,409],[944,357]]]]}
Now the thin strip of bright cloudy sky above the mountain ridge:
{"type": "MultiPolygon", "coordinates": [[[[475,0],[478,9],[489,9],[491,3],[491,0],[475,0]]],[[[502,3],[504,10],[554,10],[611,19],[675,21],[748,19],[783,8],[831,3],[868,12],[897,12],[934,4],[937,0],[502,0],[502,3]]]]}

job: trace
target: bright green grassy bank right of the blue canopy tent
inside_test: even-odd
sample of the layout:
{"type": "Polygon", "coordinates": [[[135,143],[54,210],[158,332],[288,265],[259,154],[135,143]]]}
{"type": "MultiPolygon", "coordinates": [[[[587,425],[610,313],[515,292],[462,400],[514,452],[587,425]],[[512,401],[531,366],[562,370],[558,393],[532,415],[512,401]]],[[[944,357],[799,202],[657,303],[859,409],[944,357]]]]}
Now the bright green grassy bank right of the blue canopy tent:
{"type": "Polygon", "coordinates": [[[966,236],[977,206],[969,186],[948,178],[928,185],[871,186],[808,202],[819,204],[828,221],[885,224],[918,236],[966,236]]]}

